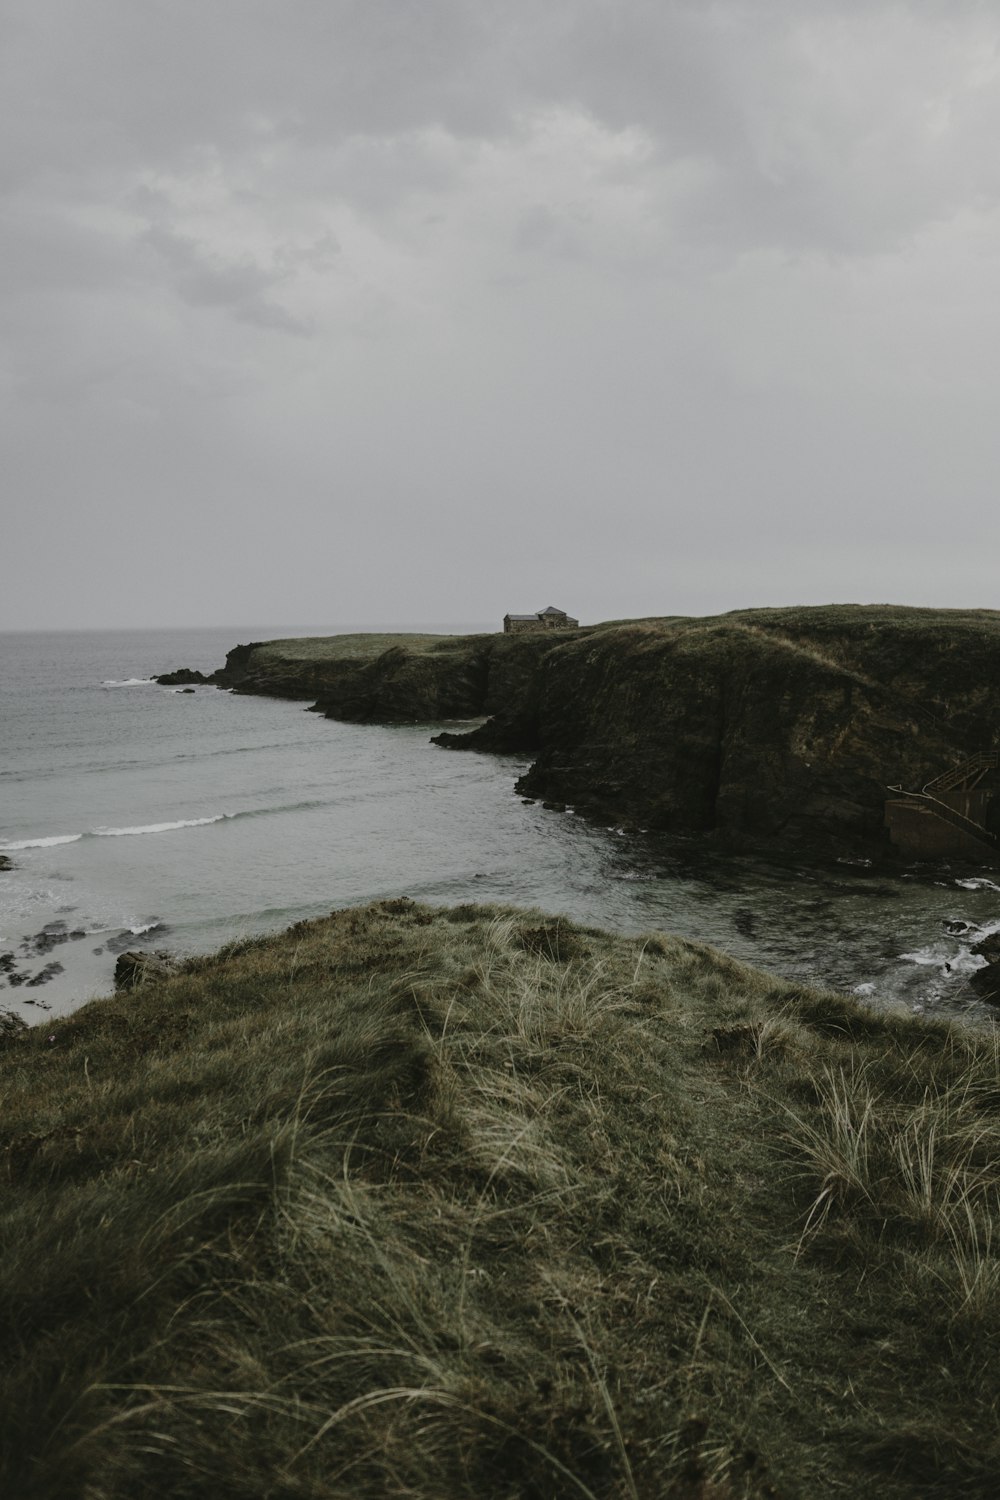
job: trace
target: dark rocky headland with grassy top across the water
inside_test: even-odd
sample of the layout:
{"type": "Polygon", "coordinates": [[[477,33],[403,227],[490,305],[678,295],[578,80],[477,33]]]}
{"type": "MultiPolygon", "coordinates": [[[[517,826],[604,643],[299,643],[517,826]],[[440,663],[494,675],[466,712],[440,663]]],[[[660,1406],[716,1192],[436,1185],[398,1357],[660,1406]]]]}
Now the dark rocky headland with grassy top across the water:
{"type": "Polygon", "coordinates": [[[873,854],[886,786],[1000,747],[1000,614],[831,604],[528,636],[238,646],[214,681],[354,722],[487,716],[525,795],[735,848],[873,854]]]}

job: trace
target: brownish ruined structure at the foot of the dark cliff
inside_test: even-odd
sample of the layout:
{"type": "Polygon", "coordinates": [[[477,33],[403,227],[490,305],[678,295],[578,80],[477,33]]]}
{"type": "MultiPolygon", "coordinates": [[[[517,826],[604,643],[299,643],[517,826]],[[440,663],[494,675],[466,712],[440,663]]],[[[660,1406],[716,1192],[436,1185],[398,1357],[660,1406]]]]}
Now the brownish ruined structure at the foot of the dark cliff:
{"type": "Polygon", "coordinates": [[[963,760],[919,792],[891,786],[885,822],[889,842],[916,860],[1000,854],[1000,754],[963,760]]]}

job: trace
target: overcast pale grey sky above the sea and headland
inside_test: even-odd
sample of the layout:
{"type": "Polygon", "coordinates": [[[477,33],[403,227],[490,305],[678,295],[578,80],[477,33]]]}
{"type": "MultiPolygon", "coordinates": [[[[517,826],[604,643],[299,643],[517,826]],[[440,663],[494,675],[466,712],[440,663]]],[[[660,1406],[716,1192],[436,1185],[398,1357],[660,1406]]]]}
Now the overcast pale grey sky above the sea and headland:
{"type": "Polygon", "coordinates": [[[0,0],[0,627],[996,606],[996,0],[0,0]]]}

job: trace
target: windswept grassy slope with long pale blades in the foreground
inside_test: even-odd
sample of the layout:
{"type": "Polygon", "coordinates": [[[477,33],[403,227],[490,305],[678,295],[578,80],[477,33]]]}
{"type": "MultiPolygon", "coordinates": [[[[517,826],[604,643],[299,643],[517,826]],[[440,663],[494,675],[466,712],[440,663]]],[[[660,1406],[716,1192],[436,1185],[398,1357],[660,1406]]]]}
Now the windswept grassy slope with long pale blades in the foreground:
{"type": "Polygon", "coordinates": [[[996,1492],[993,1038],[399,900],[0,1088],[3,1494],[996,1492]]]}

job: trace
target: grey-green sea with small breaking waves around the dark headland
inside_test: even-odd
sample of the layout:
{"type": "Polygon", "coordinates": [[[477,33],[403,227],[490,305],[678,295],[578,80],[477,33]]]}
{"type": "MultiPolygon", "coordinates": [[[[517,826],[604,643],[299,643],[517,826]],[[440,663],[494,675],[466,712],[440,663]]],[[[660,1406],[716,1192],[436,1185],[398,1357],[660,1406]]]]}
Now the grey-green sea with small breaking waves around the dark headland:
{"type": "Polygon", "coordinates": [[[204,954],[382,897],[516,903],[666,932],[880,1008],[993,1024],[969,988],[1000,930],[991,868],[808,867],[600,828],[514,792],[528,758],[444,750],[454,722],[343,724],[156,674],[249,640],[358,628],[0,634],[0,1011],[111,992],[126,948],[204,954]]]}

